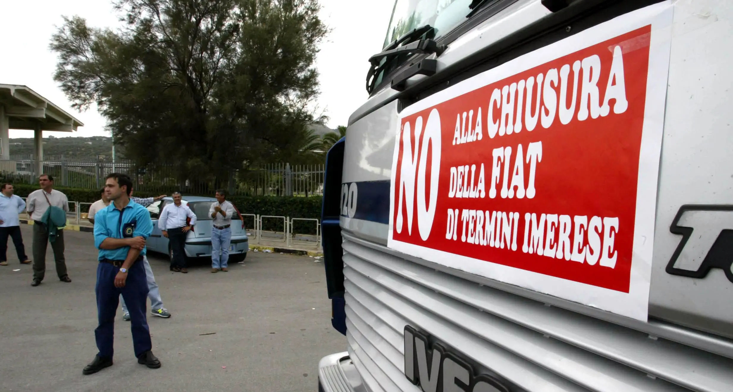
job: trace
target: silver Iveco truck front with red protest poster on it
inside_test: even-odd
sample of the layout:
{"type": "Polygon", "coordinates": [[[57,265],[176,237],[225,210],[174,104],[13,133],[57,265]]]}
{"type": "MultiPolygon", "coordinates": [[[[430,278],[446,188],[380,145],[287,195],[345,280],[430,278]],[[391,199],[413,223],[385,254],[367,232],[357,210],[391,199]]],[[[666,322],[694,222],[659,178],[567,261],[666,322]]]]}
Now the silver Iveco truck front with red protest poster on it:
{"type": "Polygon", "coordinates": [[[733,391],[732,20],[396,0],[327,155],[319,391],[733,391]]]}

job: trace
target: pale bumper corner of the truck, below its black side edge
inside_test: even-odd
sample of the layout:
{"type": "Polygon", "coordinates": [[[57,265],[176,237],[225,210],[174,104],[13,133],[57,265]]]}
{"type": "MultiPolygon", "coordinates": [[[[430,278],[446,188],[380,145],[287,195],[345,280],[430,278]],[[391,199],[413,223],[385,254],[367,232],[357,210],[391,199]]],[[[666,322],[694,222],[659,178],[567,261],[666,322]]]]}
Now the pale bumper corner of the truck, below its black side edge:
{"type": "Polygon", "coordinates": [[[366,392],[348,352],[321,358],[318,363],[318,392],[366,392]]]}

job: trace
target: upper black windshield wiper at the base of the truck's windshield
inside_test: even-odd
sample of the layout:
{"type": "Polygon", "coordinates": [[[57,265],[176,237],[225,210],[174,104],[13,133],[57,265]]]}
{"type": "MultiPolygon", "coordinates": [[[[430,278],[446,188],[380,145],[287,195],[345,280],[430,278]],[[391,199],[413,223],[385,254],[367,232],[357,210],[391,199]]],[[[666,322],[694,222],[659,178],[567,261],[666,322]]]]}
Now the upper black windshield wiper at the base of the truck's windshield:
{"type": "Polygon", "coordinates": [[[387,60],[390,57],[415,53],[435,53],[438,55],[443,53],[446,46],[438,46],[438,43],[435,43],[435,41],[432,40],[432,37],[435,37],[435,27],[426,24],[425,26],[413,29],[411,32],[402,35],[402,37],[397,38],[397,40],[392,41],[388,46],[386,46],[384,51],[369,57],[369,64],[371,66],[369,67],[369,72],[367,72],[367,92],[372,92],[372,88],[376,81],[376,75],[386,68],[389,64],[387,60]],[[423,36],[425,36],[424,39],[418,40],[418,38],[423,36]],[[383,64],[380,65],[380,62],[383,62],[383,64]],[[374,77],[374,79],[372,79],[372,77],[374,77]]]}

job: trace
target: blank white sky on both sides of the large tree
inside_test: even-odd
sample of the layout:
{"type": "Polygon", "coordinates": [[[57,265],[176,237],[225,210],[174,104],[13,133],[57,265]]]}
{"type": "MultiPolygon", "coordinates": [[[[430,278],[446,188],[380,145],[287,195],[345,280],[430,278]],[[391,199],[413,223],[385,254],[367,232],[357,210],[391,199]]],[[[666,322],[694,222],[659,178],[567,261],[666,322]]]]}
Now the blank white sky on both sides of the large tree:
{"type": "MultiPolygon", "coordinates": [[[[320,0],[321,18],[333,31],[321,45],[317,59],[321,95],[318,106],[326,109],[330,128],[346,125],[351,113],[364,104],[369,56],[382,48],[394,0],[320,0]]],[[[62,16],[79,15],[90,26],[114,27],[117,13],[108,0],[0,1],[2,59],[0,84],[24,84],[78,118],[78,131],[52,132],[56,137],[109,136],[106,120],[95,107],[86,112],[71,103],[53,79],[56,54],[48,49],[62,16]]],[[[33,131],[10,130],[10,137],[33,137],[33,131]]]]}

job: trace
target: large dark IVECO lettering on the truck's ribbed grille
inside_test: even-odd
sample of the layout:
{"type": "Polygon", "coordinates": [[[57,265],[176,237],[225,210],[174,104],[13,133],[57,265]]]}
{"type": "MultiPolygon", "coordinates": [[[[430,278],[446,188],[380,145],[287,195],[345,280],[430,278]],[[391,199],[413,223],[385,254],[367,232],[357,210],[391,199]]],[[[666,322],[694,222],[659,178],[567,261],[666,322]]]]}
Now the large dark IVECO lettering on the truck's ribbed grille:
{"type": "Polygon", "coordinates": [[[405,376],[423,392],[509,392],[487,374],[475,375],[465,360],[405,325],[405,376]]]}

